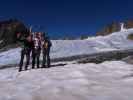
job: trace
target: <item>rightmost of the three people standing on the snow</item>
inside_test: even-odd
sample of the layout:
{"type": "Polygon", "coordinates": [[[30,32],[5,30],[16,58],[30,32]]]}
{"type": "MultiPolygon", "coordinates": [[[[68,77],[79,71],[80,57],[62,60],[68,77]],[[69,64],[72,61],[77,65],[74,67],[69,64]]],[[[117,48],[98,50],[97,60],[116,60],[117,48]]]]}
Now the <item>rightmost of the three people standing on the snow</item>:
{"type": "Polygon", "coordinates": [[[50,67],[50,48],[52,46],[52,43],[50,41],[49,37],[44,37],[43,41],[43,62],[42,62],[42,68],[49,68],[50,67]],[[47,66],[45,66],[45,63],[47,62],[47,66]]]}

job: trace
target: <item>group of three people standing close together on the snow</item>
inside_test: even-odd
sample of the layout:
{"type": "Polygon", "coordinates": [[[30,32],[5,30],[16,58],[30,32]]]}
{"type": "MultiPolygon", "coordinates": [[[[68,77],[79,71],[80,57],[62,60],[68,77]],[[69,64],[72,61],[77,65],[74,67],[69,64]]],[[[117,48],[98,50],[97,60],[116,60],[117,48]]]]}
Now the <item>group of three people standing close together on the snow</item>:
{"type": "Polygon", "coordinates": [[[26,64],[25,70],[28,69],[28,65],[30,63],[30,56],[32,57],[32,68],[35,68],[35,64],[37,68],[40,68],[40,54],[42,51],[43,61],[42,61],[42,68],[49,68],[50,67],[50,47],[52,43],[49,37],[45,37],[44,33],[35,33],[33,35],[23,36],[18,35],[19,41],[22,45],[21,51],[21,59],[19,64],[19,72],[22,71],[22,66],[24,62],[24,58],[26,57],[26,64]],[[21,37],[21,38],[20,38],[21,37]],[[32,54],[32,55],[31,55],[32,54]],[[47,62],[47,67],[45,63],[47,62]]]}

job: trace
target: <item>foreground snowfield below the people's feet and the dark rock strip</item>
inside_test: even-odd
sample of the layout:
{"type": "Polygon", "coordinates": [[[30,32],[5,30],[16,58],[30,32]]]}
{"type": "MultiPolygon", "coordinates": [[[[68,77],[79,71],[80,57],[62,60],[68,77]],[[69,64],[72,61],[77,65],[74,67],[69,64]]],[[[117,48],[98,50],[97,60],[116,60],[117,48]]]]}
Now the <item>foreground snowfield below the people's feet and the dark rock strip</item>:
{"type": "Polygon", "coordinates": [[[0,70],[0,100],[132,100],[132,65],[68,64],[18,73],[0,70]]]}

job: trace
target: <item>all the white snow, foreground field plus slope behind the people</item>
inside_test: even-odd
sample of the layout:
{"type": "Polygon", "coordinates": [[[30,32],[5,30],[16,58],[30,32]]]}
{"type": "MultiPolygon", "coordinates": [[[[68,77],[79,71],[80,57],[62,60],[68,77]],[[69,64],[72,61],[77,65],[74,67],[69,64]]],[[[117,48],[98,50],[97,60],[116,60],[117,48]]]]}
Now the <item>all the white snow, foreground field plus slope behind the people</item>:
{"type": "MultiPolygon", "coordinates": [[[[133,29],[87,40],[55,40],[51,57],[130,49],[133,41],[127,36],[131,33],[133,29]]],[[[0,53],[0,65],[19,63],[20,51],[16,48],[0,53]]],[[[0,100],[132,100],[133,65],[122,61],[59,63],[67,65],[21,73],[18,67],[0,70],[0,100]]]]}

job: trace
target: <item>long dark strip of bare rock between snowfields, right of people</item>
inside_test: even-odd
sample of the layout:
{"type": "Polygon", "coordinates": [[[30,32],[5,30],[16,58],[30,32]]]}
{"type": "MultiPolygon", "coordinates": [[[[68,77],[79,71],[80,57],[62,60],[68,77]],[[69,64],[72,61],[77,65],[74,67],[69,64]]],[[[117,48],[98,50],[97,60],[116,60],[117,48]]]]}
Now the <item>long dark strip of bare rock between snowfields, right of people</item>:
{"type": "Polygon", "coordinates": [[[113,50],[94,54],[75,55],[51,59],[52,62],[77,61],[78,63],[102,63],[104,61],[121,60],[133,55],[133,49],[113,50]]]}

